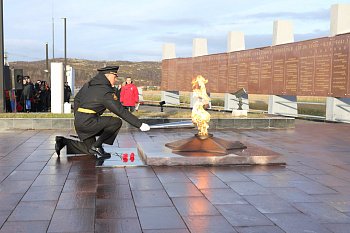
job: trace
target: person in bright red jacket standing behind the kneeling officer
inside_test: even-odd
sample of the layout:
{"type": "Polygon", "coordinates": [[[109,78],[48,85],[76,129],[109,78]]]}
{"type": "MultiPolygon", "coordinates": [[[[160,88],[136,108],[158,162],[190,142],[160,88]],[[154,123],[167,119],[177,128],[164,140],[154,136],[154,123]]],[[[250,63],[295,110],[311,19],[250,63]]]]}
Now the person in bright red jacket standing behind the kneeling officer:
{"type": "Polygon", "coordinates": [[[135,111],[135,105],[139,102],[139,91],[132,83],[130,77],[126,78],[126,85],[122,87],[120,92],[120,102],[125,109],[128,109],[130,112],[135,111]]]}

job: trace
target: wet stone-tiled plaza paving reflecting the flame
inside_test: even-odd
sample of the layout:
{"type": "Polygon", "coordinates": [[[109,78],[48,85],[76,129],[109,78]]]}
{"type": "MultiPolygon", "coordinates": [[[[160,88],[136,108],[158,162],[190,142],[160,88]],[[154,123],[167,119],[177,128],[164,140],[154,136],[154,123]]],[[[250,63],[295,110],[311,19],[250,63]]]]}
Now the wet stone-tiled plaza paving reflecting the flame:
{"type": "MultiPolygon", "coordinates": [[[[71,133],[0,131],[1,233],[349,232],[350,124],[213,132],[281,153],[285,167],[101,168],[57,158],[55,136],[71,133]]],[[[142,134],[121,132],[115,146],[135,148],[142,134]]]]}

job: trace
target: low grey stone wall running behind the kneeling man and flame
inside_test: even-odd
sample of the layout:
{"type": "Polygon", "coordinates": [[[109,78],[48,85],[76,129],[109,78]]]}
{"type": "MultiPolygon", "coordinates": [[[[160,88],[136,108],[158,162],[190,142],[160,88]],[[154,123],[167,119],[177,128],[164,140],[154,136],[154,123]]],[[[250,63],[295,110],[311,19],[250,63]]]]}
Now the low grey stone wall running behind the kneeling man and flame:
{"type": "MultiPolygon", "coordinates": [[[[188,121],[189,119],[146,118],[142,121],[153,125],[169,122],[188,121]]],[[[210,129],[269,129],[294,128],[295,119],[287,117],[273,118],[235,118],[235,119],[211,119],[210,129]]],[[[72,118],[0,118],[0,129],[72,129],[72,118]]],[[[123,128],[134,128],[124,122],[123,128]]]]}

